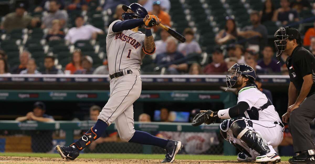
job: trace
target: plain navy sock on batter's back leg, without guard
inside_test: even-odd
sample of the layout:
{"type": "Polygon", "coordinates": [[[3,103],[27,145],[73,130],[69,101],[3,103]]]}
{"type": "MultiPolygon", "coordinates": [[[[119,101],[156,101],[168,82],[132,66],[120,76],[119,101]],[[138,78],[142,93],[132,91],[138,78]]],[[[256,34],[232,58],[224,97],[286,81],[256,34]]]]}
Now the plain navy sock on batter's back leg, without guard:
{"type": "Polygon", "coordinates": [[[159,146],[165,149],[168,143],[168,140],[161,139],[161,138],[152,136],[149,133],[136,130],[134,136],[129,140],[129,142],[138,143],[138,144],[155,145],[155,146],[159,146]]]}

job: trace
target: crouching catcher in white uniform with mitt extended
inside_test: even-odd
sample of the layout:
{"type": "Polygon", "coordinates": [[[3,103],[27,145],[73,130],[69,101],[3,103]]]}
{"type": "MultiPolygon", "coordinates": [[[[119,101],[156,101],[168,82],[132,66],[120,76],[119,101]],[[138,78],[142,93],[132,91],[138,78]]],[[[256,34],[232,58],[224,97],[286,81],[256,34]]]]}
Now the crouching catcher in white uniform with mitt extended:
{"type": "Polygon", "coordinates": [[[226,119],[220,124],[220,133],[241,150],[238,161],[280,162],[273,148],[281,143],[284,126],[272,102],[255,84],[255,70],[246,64],[234,64],[228,71],[231,75],[226,75],[227,89],[238,89],[237,105],[217,112],[201,110],[192,125],[226,119]]]}

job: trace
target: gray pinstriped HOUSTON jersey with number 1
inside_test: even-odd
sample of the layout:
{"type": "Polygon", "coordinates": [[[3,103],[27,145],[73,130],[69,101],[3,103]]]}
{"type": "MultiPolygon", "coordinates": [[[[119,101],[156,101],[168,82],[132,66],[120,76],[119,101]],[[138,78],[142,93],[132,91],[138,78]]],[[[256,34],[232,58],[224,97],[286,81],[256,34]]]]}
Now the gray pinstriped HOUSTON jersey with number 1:
{"type": "Polygon", "coordinates": [[[106,37],[106,51],[109,73],[113,74],[124,69],[140,69],[144,53],[142,46],[145,34],[141,31],[123,30],[113,32],[115,20],[109,25],[106,37]]]}

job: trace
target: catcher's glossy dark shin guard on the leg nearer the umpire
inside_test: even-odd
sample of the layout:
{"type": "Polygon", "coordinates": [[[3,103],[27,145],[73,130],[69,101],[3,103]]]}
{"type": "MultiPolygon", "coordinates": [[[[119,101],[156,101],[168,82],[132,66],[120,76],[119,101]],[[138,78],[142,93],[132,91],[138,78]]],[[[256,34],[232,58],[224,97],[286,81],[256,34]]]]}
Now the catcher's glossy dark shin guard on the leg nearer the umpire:
{"type": "Polygon", "coordinates": [[[231,125],[231,130],[238,139],[241,139],[250,148],[257,151],[260,155],[270,152],[267,142],[262,136],[246,125],[244,118],[235,119],[231,125]]]}

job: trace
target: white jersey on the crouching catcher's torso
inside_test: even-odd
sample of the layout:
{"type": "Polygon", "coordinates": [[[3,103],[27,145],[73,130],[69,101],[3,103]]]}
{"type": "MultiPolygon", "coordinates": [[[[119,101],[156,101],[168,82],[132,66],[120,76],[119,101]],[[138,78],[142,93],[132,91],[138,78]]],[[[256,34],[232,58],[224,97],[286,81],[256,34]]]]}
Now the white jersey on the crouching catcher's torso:
{"type": "Polygon", "coordinates": [[[245,117],[251,120],[269,121],[269,122],[281,122],[278,112],[273,105],[269,105],[264,110],[259,110],[261,106],[267,103],[267,96],[262,93],[255,86],[244,87],[238,92],[238,102],[244,101],[249,105],[249,108],[244,112],[245,117]],[[258,119],[251,116],[253,110],[252,107],[258,109],[258,119]]]}

